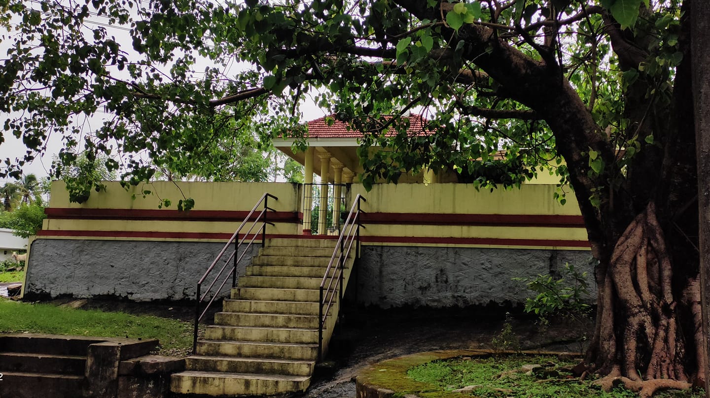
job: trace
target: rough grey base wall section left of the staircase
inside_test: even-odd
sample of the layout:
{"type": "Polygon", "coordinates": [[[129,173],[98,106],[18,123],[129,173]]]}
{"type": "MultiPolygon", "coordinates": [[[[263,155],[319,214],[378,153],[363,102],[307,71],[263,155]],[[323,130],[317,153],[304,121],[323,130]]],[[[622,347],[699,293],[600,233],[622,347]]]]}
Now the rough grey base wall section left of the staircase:
{"type": "MultiPolygon", "coordinates": [[[[30,250],[24,294],[110,295],[136,302],[193,300],[197,281],[223,247],[224,243],[209,242],[38,239],[30,250]]],[[[251,253],[245,260],[239,275],[244,275],[251,253]]],[[[221,295],[229,288],[231,281],[221,295]]]]}

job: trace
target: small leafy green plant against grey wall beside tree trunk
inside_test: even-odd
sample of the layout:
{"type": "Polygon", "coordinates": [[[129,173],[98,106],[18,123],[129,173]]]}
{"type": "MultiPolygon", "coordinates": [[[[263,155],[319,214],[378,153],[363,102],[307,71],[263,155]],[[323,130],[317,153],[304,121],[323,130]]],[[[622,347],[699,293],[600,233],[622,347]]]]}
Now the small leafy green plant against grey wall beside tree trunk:
{"type": "Polygon", "coordinates": [[[551,317],[560,317],[571,321],[579,328],[579,350],[586,341],[586,324],[591,316],[591,306],[584,300],[589,297],[587,273],[575,269],[574,265],[565,263],[559,277],[552,275],[537,275],[535,278],[514,278],[525,283],[535,296],[525,300],[525,312],[538,316],[538,326],[545,330],[551,317]]]}

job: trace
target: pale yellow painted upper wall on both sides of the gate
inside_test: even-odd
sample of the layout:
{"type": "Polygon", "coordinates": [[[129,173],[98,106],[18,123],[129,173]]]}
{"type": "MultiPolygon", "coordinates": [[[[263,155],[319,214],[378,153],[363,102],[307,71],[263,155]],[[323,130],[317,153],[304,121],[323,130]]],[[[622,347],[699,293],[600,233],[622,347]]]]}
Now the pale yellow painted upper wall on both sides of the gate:
{"type": "MultiPolygon", "coordinates": [[[[177,201],[182,194],[195,199],[195,211],[249,211],[261,197],[263,192],[269,192],[279,198],[270,201],[270,206],[276,211],[294,212],[302,211],[300,186],[290,183],[211,183],[211,182],[178,182],[178,187],[171,182],[159,182],[150,187],[143,186],[126,192],[117,182],[107,183],[107,191],[93,193],[92,197],[84,204],[70,204],[65,186],[62,182],[55,182],[52,189],[50,207],[72,209],[142,209],[157,211],[160,201],[155,195],[143,198],[136,194],[136,199],[131,199],[133,192],[140,189],[151,189],[160,197],[167,197],[173,205],[167,210],[175,210],[177,201]],[[180,194],[182,190],[182,194],[180,194]]],[[[346,209],[350,209],[356,194],[362,194],[367,202],[362,204],[362,209],[368,213],[384,214],[501,214],[501,215],[542,215],[542,216],[579,216],[579,207],[573,194],[567,195],[567,204],[560,205],[555,201],[553,194],[557,187],[554,184],[523,184],[520,189],[495,189],[476,190],[473,184],[375,184],[370,192],[366,192],[361,184],[351,184],[346,197],[346,209]]],[[[165,210],[165,208],[164,208],[165,210]]],[[[174,214],[174,211],[172,212],[174,214]]],[[[470,243],[471,239],[482,238],[493,240],[490,245],[497,245],[496,240],[520,240],[535,242],[520,243],[521,245],[534,245],[535,247],[550,247],[559,242],[572,242],[574,247],[586,247],[586,230],[579,226],[545,226],[544,219],[541,226],[477,226],[477,225],[430,225],[428,222],[417,223],[416,217],[409,217],[403,223],[371,223],[361,231],[363,236],[383,238],[386,243],[389,238],[403,237],[402,244],[420,245],[446,245],[437,238],[463,239],[470,243]],[[426,238],[424,243],[414,243],[406,238],[426,238]],[[428,241],[427,241],[428,240],[428,241]],[[550,242],[545,242],[550,241],[550,242]],[[407,243],[409,242],[409,243],[407,243]],[[579,245],[577,245],[579,243],[579,245]]],[[[449,221],[451,221],[449,219],[449,221]]],[[[454,220],[455,221],[455,220],[454,220]]],[[[115,236],[94,236],[92,239],[148,239],[146,236],[155,236],[152,232],[168,233],[171,238],[150,238],[154,240],[175,240],[175,236],[182,236],[180,240],[203,241],[200,238],[185,238],[180,233],[223,233],[234,232],[241,221],[181,221],[173,219],[126,220],[126,219],[61,219],[50,218],[45,220],[44,228],[49,233],[42,238],[80,238],[72,233],[63,231],[117,231],[115,236]],[[52,232],[53,231],[53,232],[52,232]],[[125,232],[136,232],[139,237],[127,238],[125,232]],[[146,234],[147,233],[147,234],[146,234]],[[177,234],[177,235],[176,235],[177,234]],[[124,236],[120,238],[119,236],[124,236]]],[[[247,228],[251,223],[247,224],[247,228]]],[[[276,223],[268,226],[268,233],[284,236],[299,236],[302,227],[300,223],[276,223]]],[[[246,232],[246,229],[243,230],[246,232]]],[[[76,235],[76,234],[74,234],[76,235]]],[[[96,235],[96,234],[94,234],[96,235]]],[[[102,235],[102,234],[98,234],[102,235]]],[[[136,234],[129,234],[135,236],[136,234]]],[[[195,236],[195,235],[192,235],[195,236]]],[[[217,239],[219,240],[219,239],[217,239]]],[[[415,241],[417,241],[415,239],[415,241]]],[[[421,241],[421,240],[419,240],[421,241]]],[[[367,243],[366,243],[367,244],[367,243]]],[[[371,243],[370,243],[371,244],[371,243]]],[[[471,243],[473,244],[473,243],[471,243]]],[[[468,245],[468,244],[467,244],[468,245]]],[[[486,244],[488,245],[488,244],[486,244]]]]}

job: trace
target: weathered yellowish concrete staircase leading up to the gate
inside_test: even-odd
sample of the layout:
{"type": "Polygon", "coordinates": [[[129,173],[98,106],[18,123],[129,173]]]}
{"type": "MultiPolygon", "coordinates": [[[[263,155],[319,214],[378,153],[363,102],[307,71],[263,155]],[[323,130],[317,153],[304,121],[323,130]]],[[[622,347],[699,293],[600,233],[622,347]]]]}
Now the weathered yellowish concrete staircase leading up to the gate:
{"type": "MultiPolygon", "coordinates": [[[[171,391],[213,397],[304,391],[318,357],[319,289],[335,243],[268,240],[214,326],[207,326],[197,355],[187,358],[187,370],[171,378],[171,391]]],[[[346,261],[345,286],[353,258],[351,253],[346,261]]],[[[323,355],[338,309],[336,300],[323,331],[323,355]]]]}

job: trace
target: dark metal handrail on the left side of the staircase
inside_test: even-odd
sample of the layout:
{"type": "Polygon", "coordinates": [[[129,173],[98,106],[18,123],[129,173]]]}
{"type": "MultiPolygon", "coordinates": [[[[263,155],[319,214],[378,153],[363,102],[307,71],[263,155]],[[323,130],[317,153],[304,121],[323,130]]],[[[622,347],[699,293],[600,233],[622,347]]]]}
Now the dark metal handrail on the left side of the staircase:
{"type": "Polygon", "coordinates": [[[231,287],[236,287],[236,267],[237,267],[237,265],[239,265],[239,262],[241,261],[241,259],[244,258],[244,254],[246,254],[246,251],[249,250],[249,248],[251,248],[251,244],[254,242],[254,240],[258,236],[258,232],[252,233],[251,231],[253,231],[254,226],[256,226],[259,221],[261,221],[261,225],[260,225],[261,247],[263,248],[264,245],[266,245],[266,224],[271,224],[272,226],[274,225],[273,223],[267,221],[267,217],[266,217],[266,215],[268,214],[267,211],[268,210],[275,211],[274,209],[271,209],[271,207],[268,206],[268,198],[273,198],[275,200],[278,200],[278,197],[275,197],[272,194],[268,194],[268,193],[264,193],[261,196],[261,199],[259,199],[256,202],[253,209],[251,209],[251,211],[249,211],[249,215],[246,216],[246,219],[244,219],[244,221],[241,222],[241,224],[239,225],[239,228],[236,228],[236,231],[234,231],[234,234],[232,234],[231,238],[229,238],[229,241],[227,241],[226,245],[224,245],[224,248],[222,248],[222,251],[219,252],[219,255],[217,255],[217,258],[215,258],[214,261],[212,261],[212,264],[209,265],[209,267],[207,268],[207,271],[204,272],[204,275],[202,275],[202,278],[200,278],[200,282],[197,282],[197,292],[195,294],[195,299],[197,301],[197,303],[195,304],[195,336],[193,336],[193,338],[192,338],[192,353],[195,353],[195,350],[197,349],[197,328],[200,325],[200,321],[202,321],[202,318],[204,318],[204,315],[207,314],[207,310],[209,309],[209,306],[212,305],[212,302],[214,302],[214,299],[216,299],[217,296],[219,296],[219,292],[222,292],[222,288],[226,284],[226,281],[229,280],[230,275],[231,275],[231,287]],[[256,219],[254,219],[254,222],[251,223],[251,227],[249,228],[249,231],[246,231],[246,233],[244,233],[244,236],[241,238],[241,240],[238,240],[239,233],[241,232],[241,229],[244,228],[247,221],[249,221],[249,219],[251,219],[251,216],[254,214],[254,211],[256,211],[256,208],[259,205],[261,205],[262,202],[264,204],[263,210],[261,211],[261,213],[259,213],[258,216],[256,216],[256,219]],[[249,237],[250,233],[251,233],[251,241],[249,241],[249,244],[246,245],[246,248],[244,248],[244,250],[241,250],[241,255],[239,255],[239,248],[241,248],[241,244],[244,243],[244,241],[246,241],[246,238],[249,237]],[[202,290],[202,283],[204,283],[204,281],[207,280],[207,277],[209,276],[209,274],[212,272],[212,270],[214,270],[214,268],[217,266],[219,261],[222,260],[222,256],[224,255],[226,250],[229,249],[229,245],[231,245],[231,243],[234,243],[234,252],[232,252],[231,255],[229,255],[229,258],[224,260],[224,265],[222,265],[222,269],[220,269],[219,272],[217,272],[217,276],[214,277],[214,280],[212,280],[212,283],[210,283],[209,286],[207,287],[207,289],[205,289],[204,294],[200,295],[200,292],[202,290]],[[239,255],[239,257],[237,257],[237,255],[239,255]],[[207,298],[207,295],[209,294],[209,292],[212,291],[212,287],[214,287],[214,284],[217,283],[217,280],[219,280],[219,277],[222,276],[222,274],[224,273],[224,270],[226,270],[227,265],[229,265],[229,263],[232,259],[234,259],[234,262],[232,262],[233,265],[232,265],[231,269],[229,270],[229,272],[227,272],[226,277],[224,277],[222,284],[220,284],[219,287],[217,288],[217,291],[214,292],[214,294],[212,294],[212,298],[209,299],[209,302],[207,303],[207,305],[204,306],[204,310],[202,310],[202,312],[200,312],[200,307],[202,306],[202,302],[204,302],[204,300],[207,298]]]}

